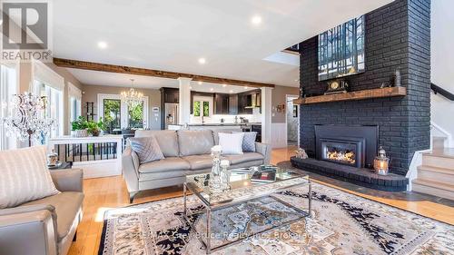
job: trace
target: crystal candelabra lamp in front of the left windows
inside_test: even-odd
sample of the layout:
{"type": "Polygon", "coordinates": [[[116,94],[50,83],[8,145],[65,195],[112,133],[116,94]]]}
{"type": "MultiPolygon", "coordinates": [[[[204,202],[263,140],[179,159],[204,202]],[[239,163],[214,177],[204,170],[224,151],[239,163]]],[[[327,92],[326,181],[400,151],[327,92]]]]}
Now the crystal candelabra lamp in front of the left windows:
{"type": "Polygon", "coordinates": [[[45,96],[32,93],[15,94],[11,114],[3,120],[6,134],[15,133],[20,141],[28,140],[28,146],[32,146],[32,139],[38,140],[47,136],[56,122],[54,119],[46,118],[46,103],[45,96]]]}

